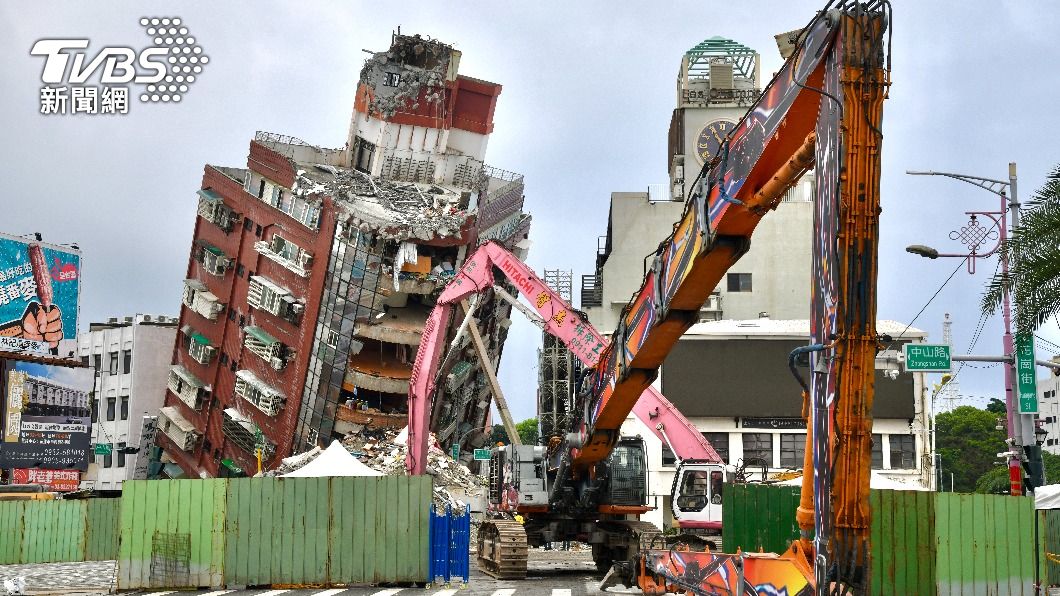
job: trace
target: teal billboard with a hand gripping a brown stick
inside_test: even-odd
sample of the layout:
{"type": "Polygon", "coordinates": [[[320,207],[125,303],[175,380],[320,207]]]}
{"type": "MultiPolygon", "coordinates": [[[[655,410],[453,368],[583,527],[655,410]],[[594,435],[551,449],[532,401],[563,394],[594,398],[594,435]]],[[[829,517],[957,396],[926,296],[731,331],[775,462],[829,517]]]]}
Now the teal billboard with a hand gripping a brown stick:
{"type": "Polygon", "coordinates": [[[0,350],[58,353],[76,339],[81,252],[0,233],[0,350]]]}

